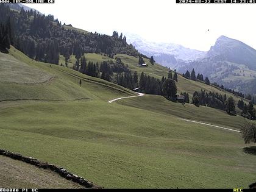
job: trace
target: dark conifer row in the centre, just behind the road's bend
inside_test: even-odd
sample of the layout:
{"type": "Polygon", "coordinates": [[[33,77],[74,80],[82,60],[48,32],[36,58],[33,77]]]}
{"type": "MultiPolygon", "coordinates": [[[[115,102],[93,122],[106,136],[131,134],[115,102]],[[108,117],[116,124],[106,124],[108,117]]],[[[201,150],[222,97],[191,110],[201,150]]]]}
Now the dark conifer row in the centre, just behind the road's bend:
{"type": "MultiPolygon", "coordinates": [[[[87,62],[83,55],[81,59],[77,59],[73,69],[88,76],[100,77],[101,79],[113,82],[123,87],[133,90],[140,88],[142,93],[163,95],[166,98],[176,98],[177,93],[177,73],[175,71],[172,77],[171,71],[168,73],[168,78],[162,77],[162,80],[148,76],[142,72],[138,79],[137,71],[132,73],[127,65],[124,65],[121,58],[115,57],[115,61],[103,61],[101,65],[98,63],[87,62]]],[[[183,93],[189,102],[188,93],[183,93]]]]}

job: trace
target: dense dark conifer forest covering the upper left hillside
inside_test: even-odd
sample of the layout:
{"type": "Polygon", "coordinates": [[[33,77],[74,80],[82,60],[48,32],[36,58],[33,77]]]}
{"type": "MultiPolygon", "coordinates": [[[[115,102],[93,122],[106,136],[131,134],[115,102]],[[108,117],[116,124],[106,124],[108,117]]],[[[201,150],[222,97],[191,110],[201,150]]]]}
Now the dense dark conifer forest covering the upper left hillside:
{"type": "Polygon", "coordinates": [[[52,15],[41,15],[34,10],[25,11],[23,8],[17,12],[1,4],[0,23],[6,23],[6,18],[10,18],[10,28],[15,34],[13,39],[10,39],[10,44],[31,59],[41,62],[58,64],[59,54],[64,55],[67,62],[72,54],[76,59],[80,59],[84,53],[104,53],[112,58],[115,54],[148,58],[140,54],[132,44],[127,44],[126,37],[118,32],[113,32],[112,36],[97,32],[80,32],[66,28],[52,15]]]}

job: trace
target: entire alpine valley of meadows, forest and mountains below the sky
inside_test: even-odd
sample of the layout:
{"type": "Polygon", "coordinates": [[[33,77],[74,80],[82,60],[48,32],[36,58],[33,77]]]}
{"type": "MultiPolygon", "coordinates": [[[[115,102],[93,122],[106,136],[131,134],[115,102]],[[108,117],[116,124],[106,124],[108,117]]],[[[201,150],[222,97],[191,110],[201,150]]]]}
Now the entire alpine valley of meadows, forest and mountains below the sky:
{"type": "MultiPolygon", "coordinates": [[[[224,36],[208,52],[128,38],[0,5],[0,149],[106,189],[254,183],[256,110],[225,88],[254,94],[255,50],[224,36]]],[[[0,188],[81,187],[9,157],[0,188]]]]}

